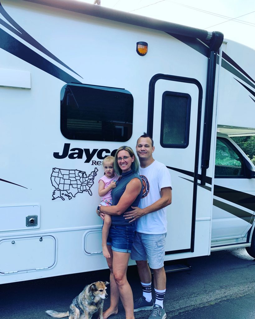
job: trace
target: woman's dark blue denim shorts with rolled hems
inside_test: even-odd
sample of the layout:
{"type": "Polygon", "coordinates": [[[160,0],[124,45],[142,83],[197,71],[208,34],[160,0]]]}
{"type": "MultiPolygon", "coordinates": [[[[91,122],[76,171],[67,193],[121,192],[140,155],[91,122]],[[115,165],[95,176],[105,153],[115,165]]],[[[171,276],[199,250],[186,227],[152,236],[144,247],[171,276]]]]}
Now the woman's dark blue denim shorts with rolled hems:
{"type": "Polygon", "coordinates": [[[135,225],[111,225],[107,238],[107,245],[112,246],[112,250],[121,253],[131,253],[133,237],[135,235],[135,225]]]}

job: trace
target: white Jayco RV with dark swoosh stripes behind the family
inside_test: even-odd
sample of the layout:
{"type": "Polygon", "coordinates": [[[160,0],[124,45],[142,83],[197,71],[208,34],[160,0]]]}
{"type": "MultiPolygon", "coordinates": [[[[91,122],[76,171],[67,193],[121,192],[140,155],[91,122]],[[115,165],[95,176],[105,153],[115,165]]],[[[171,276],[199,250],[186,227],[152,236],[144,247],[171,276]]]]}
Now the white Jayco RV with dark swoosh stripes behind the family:
{"type": "Polygon", "coordinates": [[[255,135],[252,49],[78,0],[0,14],[0,283],[107,267],[102,160],[144,131],[172,177],[165,260],[255,257],[255,167],[231,139],[255,135]]]}

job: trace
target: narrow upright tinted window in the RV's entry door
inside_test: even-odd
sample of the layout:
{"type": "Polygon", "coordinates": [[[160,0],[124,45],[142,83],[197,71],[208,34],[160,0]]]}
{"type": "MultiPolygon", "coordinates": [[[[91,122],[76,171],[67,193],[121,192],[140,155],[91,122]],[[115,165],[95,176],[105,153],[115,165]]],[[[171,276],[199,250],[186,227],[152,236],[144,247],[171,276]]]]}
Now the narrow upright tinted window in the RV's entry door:
{"type": "Polygon", "coordinates": [[[160,144],[186,148],[189,145],[191,96],[166,91],[162,96],[160,144]]]}

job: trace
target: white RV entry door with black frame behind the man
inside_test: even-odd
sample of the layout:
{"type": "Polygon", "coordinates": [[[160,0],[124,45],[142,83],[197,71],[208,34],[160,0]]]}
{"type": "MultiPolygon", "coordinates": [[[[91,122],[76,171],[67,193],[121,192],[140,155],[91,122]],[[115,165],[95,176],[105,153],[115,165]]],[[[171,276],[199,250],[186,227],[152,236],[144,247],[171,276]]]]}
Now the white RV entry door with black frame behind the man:
{"type": "Polygon", "coordinates": [[[202,88],[195,79],[157,74],[150,81],[148,134],[169,168],[166,254],[194,251],[202,88]]]}

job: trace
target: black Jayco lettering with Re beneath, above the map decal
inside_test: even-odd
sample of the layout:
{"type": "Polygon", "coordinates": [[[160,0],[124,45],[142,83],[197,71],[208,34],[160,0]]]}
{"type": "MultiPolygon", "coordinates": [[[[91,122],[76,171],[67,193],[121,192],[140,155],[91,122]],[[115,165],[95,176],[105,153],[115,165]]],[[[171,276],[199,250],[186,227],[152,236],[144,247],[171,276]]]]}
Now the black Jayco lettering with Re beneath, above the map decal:
{"type": "MultiPolygon", "coordinates": [[[[65,159],[68,157],[69,159],[82,159],[83,155],[85,154],[86,160],[84,163],[90,163],[91,159],[97,155],[98,159],[104,159],[108,155],[114,156],[116,153],[116,150],[113,150],[112,152],[107,148],[102,148],[98,150],[98,148],[94,148],[93,150],[90,150],[89,148],[71,148],[70,149],[70,143],[65,143],[62,152],[54,152],[53,157],[55,159],[65,159]]],[[[93,160],[91,165],[101,165],[101,161],[93,160]]]]}

